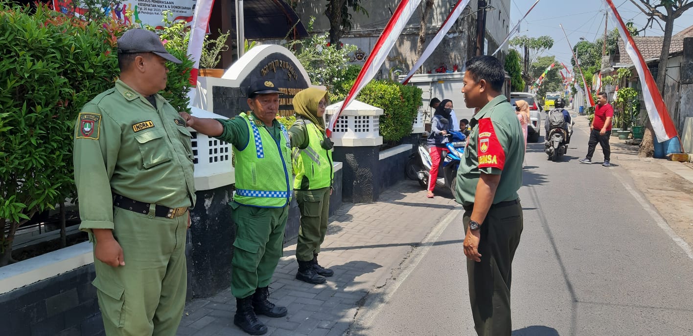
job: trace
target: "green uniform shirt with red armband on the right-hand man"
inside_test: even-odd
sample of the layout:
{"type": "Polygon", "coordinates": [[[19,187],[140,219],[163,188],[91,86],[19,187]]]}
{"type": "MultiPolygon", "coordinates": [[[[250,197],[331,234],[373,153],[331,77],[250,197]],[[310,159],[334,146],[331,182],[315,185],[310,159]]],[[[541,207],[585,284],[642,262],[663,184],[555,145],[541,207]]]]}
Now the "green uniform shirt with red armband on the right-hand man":
{"type": "Polygon", "coordinates": [[[525,136],[505,95],[493,98],[470,120],[471,133],[457,169],[457,203],[474,203],[481,173],[500,175],[493,204],[518,199],[525,160],[525,136]]]}

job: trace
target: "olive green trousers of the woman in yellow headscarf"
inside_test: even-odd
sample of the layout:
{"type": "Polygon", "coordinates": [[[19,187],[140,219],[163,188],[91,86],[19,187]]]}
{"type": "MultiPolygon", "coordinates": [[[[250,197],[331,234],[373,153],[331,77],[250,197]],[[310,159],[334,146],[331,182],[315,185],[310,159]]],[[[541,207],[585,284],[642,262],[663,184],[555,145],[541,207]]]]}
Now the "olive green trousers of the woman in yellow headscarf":
{"type": "Polygon", "coordinates": [[[325,241],[330,211],[330,187],[315,190],[297,190],[296,202],[301,210],[301,226],[296,245],[296,259],[313,260],[325,241]]]}

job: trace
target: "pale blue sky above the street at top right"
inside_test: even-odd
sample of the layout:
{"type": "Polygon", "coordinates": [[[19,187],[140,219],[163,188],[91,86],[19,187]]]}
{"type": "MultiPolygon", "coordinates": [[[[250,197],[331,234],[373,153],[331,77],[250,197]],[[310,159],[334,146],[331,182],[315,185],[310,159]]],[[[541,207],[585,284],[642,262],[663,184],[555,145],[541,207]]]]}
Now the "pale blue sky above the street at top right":
{"type": "MultiPolygon", "coordinates": [[[[534,1],[536,0],[511,0],[511,25],[509,29],[517,24],[517,21],[532,7],[534,1]]],[[[613,3],[617,6],[624,21],[633,21],[638,29],[647,23],[647,17],[630,0],[613,0],[613,3]]],[[[606,5],[603,0],[540,0],[534,10],[527,15],[525,21],[520,24],[520,33],[516,35],[529,37],[549,35],[553,37],[553,48],[545,51],[542,56],[555,55],[556,59],[570,66],[572,53],[559,24],[563,24],[572,46],[580,41],[580,37],[584,37],[588,41],[595,41],[604,35],[605,10],[606,5]]],[[[608,30],[615,28],[611,19],[607,21],[608,30]]],[[[674,21],[674,34],[692,25],[693,9],[690,9],[674,21]]],[[[662,26],[664,26],[663,22],[662,26]]],[[[652,28],[647,28],[646,32],[640,33],[640,36],[663,35],[663,30],[657,24],[653,24],[652,28]]]]}

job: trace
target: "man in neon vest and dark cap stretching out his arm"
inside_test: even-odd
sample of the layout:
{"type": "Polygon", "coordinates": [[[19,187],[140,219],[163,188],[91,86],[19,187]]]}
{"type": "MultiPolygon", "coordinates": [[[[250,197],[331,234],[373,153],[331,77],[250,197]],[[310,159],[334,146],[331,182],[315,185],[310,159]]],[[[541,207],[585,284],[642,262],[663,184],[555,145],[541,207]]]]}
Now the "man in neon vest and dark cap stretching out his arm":
{"type": "Polygon", "coordinates": [[[291,147],[286,128],[275,120],[279,90],[270,81],[250,86],[248,106],[228,120],[180,113],[189,127],[234,146],[236,194],[229,203],[238,225],[234,241],[231,292],[236,297],[234,324],[250,335],[267,333],[256,313],[286,316],[286,308],[267,300],[274,268],[282,254],[289,214],[291,147]]]}

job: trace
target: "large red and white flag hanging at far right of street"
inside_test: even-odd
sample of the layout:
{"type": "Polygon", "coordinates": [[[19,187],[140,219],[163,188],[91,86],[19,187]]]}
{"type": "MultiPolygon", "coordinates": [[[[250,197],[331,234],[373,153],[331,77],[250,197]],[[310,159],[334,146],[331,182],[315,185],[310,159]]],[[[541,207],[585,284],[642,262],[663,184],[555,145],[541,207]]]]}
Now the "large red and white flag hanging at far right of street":
{"type": "Polygon", "coordinates": [[[611,11],[609,16],[615,22],[621,39],[624,41],[626,53],[633,59],[635,70],[638,71],[638,76],[642,84],[642,98],[647,108],[647,115],[649,115],[650,122],[652,123],[652,129],[657,136],[657,141],[664,142],[678,136],[672,117],[669,115],[669,111],[667,111],[667,106],[664,104],[664,100],[652,77],[652,73],[650,73],[649,68],[647,68],[647,63],[645,63],[645,60],[642,58],[638,46],[635,46],[635,41],[633,41],[631,33],[626,28],[626,24],[623,23],[621,15],[618,14],[616,6],[613,5],[613,1],[611,0],[604,0],[604,3],[606,3],[606,7],[611,11]]]}

